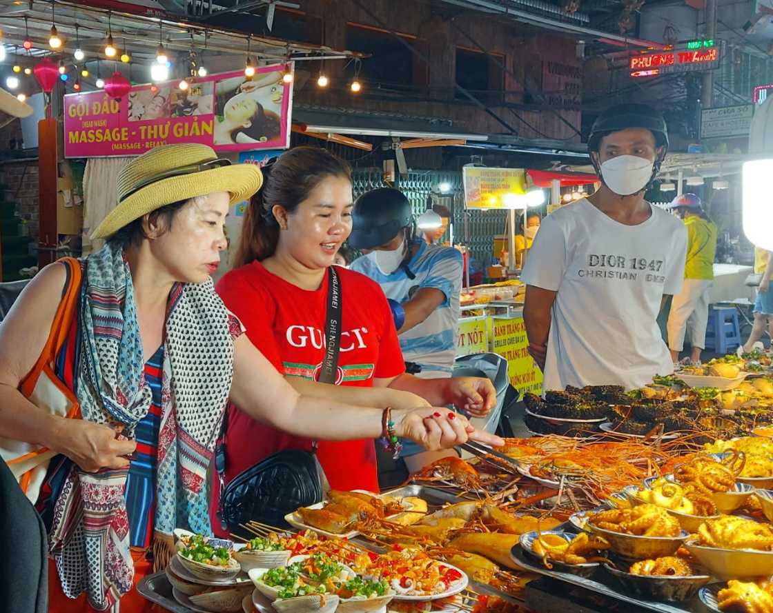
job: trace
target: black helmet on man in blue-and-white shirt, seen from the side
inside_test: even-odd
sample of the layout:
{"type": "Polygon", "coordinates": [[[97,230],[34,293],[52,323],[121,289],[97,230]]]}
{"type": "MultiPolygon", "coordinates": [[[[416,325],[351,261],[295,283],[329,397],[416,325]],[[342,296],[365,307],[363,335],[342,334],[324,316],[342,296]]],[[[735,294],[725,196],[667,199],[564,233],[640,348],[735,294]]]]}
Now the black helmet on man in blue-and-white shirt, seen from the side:
{"type": "Polygon", "coordinates": [[[403,192],[393,188],[366,191],[352,208],[349,245],[355,249],[376,249],[413,225],[414,212],[403,192]]]}

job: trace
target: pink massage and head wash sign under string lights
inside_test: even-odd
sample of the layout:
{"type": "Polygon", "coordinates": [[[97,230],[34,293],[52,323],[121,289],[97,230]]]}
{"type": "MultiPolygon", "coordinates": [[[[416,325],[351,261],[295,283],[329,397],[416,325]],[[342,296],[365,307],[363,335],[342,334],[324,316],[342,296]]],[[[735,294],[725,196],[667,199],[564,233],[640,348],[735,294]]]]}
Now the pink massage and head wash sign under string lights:
{"type": "Polygon", "coordinates": [[[64,97],[65,157],[140,155],[163,144],[215,151],[290,146],[292,83],[283,66],[132,86],[120,101],[103,90],[64,97]]]}

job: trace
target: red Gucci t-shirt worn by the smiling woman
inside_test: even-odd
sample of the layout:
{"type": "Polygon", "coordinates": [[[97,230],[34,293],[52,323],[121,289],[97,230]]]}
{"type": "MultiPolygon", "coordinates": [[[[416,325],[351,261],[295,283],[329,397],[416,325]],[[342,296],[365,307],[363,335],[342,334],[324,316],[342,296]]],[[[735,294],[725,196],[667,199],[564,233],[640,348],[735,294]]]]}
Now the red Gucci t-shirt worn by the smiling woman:
{"type": "MultiPolygon", "coordinates": [[[[341,280],[341,349],[338,384],[373,386],[373,378],[405,372],[392,313],[380,286],[365,275],[337,268],[341,280]]],[[[247,337],[284,375],[314,378],[324,358],[328,276],[316,291],[301,290],[252,262],[226,273],[217,293],[247,330],[247,337]]],[[[255,382],[256,385],[260,381],[255,382]]],[[[318,459],[334,489],[378,491],[375,442],[320,441],[318,459]]],[[[226,484],[243,470],[284,449],[311,449],[310,439],[261,425],[237,407],[228,408],[226,484]]],[[[213,487],[213,530],[219,500],[213,487]]]]}

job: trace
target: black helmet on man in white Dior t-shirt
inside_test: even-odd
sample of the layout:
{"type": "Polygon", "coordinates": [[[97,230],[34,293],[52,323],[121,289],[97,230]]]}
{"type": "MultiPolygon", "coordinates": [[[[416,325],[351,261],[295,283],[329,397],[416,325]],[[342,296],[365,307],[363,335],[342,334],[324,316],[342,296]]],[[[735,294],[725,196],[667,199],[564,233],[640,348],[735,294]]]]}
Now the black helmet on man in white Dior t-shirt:
{"type": "MultiPolygon", "coordinates": [[[[628,128],[632,127],[644,128],[652,132],[652,135],[655,137],[655,146],[663,148],[662,154],[655,161],[655,167],[652,168],[652,178],[647,187],[645,187],[647,189],[658,176],[660,165],[669,151],[669,131],[668,127],[666,127],[666,119],[656,109],[648,104],[618,104],[615,107],[609,107],[594,121],[593,127],[591,127],[591,135],[587,139],[587,151],[591,154],[598,154],[602,138],[613,132],[628,130],[628,128]]],[[[601,164],[592,155],[591,161],[596,169],[598,178],[603,181],[604,179],[601,177],[601,164]]]]}

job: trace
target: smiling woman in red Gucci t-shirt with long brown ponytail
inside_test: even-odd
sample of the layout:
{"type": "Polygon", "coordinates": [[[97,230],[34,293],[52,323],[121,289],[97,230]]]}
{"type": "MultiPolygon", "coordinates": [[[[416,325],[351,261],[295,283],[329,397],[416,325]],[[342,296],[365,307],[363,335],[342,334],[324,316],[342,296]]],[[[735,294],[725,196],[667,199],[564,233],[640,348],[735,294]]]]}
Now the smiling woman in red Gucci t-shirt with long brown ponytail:
{"type": "MultiPolygon", "coordinates": [[[[374,408],[455,404],[473,417],[487,415],[495,403],[488,379],[424,380],[405,373],[380,286],[340,267],[338,381],[318,382],[325,353],[328,267],[352,231],[351,171],[329,151],[298,147],[264,174],[264,188],[244,216],[237,269],[216,287],[255,347],[307,395],[374,408]]],[[[261,425],[234,406],[228,411],[226,483],[276,452],[310,448],[309,439],[261,425]]],[[[448,428],[441,412],[434,415],[429,427],[448,428]]],[[[377,491],[373,440],[321,441],[318,459],[333,488],[377,491]]],[[[210,507],[215,532],[220,526],[215,520],[219,490],[218,483],[210,507]]]]}

